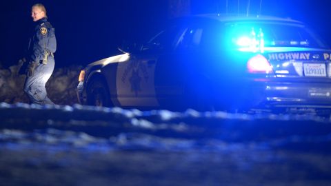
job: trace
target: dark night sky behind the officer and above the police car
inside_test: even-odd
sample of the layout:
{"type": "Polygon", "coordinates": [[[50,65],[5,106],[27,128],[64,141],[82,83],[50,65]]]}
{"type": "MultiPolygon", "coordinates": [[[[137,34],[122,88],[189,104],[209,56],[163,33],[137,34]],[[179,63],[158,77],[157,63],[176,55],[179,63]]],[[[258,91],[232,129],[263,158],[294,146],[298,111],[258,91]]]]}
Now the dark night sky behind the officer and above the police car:
{"type": "MultiPolygon", "coordinates": [[[[259,0],[250,0],[253,14],[259,10],[259,0]]],[[[3,66],[17,63],[26,48],[27,32],[32,19],[30,8],[43,3],[48,18],[56,29],[57,67],[69,64],[86,65],[92,61],[119,54],[117,46],[123,39],[146,40],[168,19],[166,0],[12,0],[1,1],[0,61],[3,66]]],[[[237,0],[228,1],[228,12],[237,12],[237,0]]],[[[247,1],[240,1],[245,12],[247,1]]],[[[329,26],[331,2],[323,0],[263,0],[262,14],[292,17],[308,23],[331,43],[329,26]]],[[[191,0],[192,14],[225,12],[225,0],[191,0]]]]}

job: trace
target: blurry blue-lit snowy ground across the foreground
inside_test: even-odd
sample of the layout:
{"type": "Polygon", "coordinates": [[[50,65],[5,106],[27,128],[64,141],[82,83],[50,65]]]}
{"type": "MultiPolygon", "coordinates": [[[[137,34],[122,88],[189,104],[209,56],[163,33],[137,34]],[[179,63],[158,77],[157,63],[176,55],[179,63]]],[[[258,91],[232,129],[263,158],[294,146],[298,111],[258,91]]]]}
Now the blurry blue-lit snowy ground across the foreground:
{"type": "Polygon", "coordinates": [[[331,185],[310,114],[0,103],[1,185],[331,185]]]}

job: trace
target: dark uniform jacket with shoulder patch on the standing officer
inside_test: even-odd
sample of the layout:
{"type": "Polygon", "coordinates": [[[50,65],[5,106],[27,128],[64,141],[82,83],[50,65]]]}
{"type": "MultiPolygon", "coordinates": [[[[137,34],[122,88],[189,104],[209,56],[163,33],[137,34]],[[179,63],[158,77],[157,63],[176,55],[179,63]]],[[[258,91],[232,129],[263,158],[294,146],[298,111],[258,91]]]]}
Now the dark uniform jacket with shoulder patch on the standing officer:
{"type": "Polygon", "coordinates": [[[35,23],[34,30],[30,33],[30,39],[28,43],[27,62],[32,61],[39,63],[43,56],[48,54],[53,55],[57,50],[57,40],[55,38],[54,28],[47,21],[47,18],[38,20],[35,23]]]}

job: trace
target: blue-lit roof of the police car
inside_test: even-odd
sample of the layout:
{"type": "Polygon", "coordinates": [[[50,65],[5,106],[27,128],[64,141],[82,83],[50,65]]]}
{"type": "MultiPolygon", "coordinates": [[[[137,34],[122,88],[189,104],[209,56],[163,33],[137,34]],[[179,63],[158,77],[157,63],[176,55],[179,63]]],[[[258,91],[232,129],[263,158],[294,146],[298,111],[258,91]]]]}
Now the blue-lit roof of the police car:
{"type": "Polygon", "coordinates": [[[233,22],[233,21],[277,21],[277,22],[285,22],[285,23],[299,23],[303,24],[301,21],[297,21],[290,18],[281,18],[281,17],[272,17],[272,16],[252,16],[245,14],[196,14],[190,17],[195,18],[205,18],[205,19],[213,19],[221,22],[233,22]]]}

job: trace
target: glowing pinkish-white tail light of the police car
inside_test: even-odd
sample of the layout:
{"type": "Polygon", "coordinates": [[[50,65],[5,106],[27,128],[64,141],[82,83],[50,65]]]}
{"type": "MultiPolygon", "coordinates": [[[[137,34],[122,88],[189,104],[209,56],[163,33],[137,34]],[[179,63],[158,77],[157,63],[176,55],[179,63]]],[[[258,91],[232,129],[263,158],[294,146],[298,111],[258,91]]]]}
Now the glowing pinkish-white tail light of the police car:
{"type": "Polygon", "coordinates": [[[272,72],[272,66],[269,61],[261,54],[257,54],[248,60],[247,68],[250,73],[268,74],[272,72]]]}

